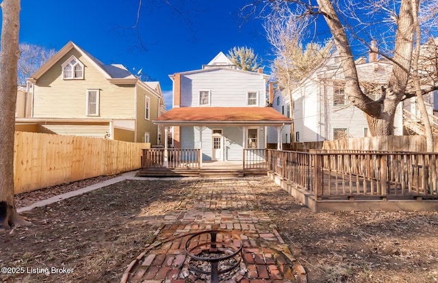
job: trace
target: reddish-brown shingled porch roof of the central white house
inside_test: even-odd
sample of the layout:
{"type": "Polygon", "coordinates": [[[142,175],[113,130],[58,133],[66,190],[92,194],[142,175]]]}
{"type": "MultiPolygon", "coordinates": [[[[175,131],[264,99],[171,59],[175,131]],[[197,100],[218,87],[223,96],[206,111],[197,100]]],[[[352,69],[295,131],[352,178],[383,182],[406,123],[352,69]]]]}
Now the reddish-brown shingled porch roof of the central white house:
{"type": "Polygon", "coordinates": [[[292,121],[272,107],[177,107],[153,120],[155,124],[253,124],[280,126],[292,121]]]}

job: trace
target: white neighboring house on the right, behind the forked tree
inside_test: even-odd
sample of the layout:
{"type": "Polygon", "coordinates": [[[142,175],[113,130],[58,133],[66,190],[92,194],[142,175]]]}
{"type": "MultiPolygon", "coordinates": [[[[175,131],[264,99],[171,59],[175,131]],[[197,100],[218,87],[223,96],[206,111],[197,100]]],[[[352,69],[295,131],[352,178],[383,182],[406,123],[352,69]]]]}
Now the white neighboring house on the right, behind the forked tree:
{"type": "MultiPolygon", "coordinates": [[[[383,59],[365,62],[357,60],[357,72],[361,83],[383,85],[389,79],[391,64],[383,59]]],[[[350,105],[344,93],[345,78],[340,58],[333,53],[322,67],[303,79],[292,92],[296,142],[320,142],[345,137],[366,137],[368,123],[365,114],[350,105]]],[[[370,94],[373,95],[373,94],[370,94]]],[[[277,96],[276,96],[277,97],[277,96]]],[[[282,113],[289,97],[283,95],[283,102],[273,107],[282,113]]],[[[281,100],[281,98],[280,98],[281,100]]],[[[394,121],[394,134],[402,135],[402,105],[398,106],[394,121]]],[[[290,137],[290,128],[282,132],[282,139],[290,137]]],[[[271,141],[273,138],[269,138],[271,141]]],[[[284,139],[283,139],[284,140],[284,139]]],[[[289,142],[289,141],[288,141],[289,142]]]]}

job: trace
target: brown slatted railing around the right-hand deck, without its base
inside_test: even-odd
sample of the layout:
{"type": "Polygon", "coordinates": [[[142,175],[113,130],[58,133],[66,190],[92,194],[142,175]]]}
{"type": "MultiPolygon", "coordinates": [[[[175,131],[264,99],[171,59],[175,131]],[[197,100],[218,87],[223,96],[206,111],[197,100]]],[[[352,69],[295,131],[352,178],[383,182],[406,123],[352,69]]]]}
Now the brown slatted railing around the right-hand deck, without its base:
{"type": "Polygon", "coordinates": [[[438,198],[437,155],[361,150],[269,150],[268,170],[317,198],[438,198]]]}

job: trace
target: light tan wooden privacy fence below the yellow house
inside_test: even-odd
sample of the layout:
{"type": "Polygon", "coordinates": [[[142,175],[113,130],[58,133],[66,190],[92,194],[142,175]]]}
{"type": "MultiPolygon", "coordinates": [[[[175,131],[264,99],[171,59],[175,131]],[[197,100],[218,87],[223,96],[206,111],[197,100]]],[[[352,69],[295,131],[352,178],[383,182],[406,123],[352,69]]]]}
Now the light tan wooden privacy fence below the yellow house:
{"type": "Polygon", "coordinates": [[[151,144],[15,132],[14,192],[23,193],[140,168],[151,144]]]}

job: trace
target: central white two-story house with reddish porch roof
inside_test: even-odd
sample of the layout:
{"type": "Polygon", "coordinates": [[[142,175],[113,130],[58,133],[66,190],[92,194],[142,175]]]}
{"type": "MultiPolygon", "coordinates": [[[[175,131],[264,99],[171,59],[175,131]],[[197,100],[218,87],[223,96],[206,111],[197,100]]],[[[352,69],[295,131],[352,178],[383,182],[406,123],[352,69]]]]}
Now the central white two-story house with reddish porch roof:
{"type": "Polygon", "coordinates": [[[173,107],[153,122],[167,133],[172,129],[175,148],[201,149],[203,161],[242,161],[244,148],[266,148],[267,127],[280,133],[291,123],[266,107],[269,76],[262,69],[238,70],[222,52],[201,69],[170,79],[173,107]]]}

